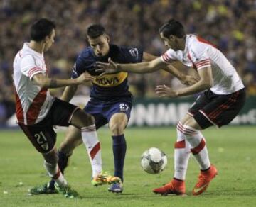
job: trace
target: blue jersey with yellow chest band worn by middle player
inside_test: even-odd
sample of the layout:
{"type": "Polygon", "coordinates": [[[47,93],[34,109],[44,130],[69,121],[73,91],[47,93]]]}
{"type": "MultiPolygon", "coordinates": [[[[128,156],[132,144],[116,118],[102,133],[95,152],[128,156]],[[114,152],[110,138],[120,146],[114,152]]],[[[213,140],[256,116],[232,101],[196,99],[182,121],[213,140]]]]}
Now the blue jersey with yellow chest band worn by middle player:
{"type": "Polygon", "coordinates": [[[88,72],[96,77],[92,84],[90,96],[102,101],[111,101],[125,96],[131,96],[127,82],[127,72],[117,72],[116,74],[105,74],[99,76],[95,72],[95,62],[107,62],[108,58],[117,63],[142,62],[143,51],[134,47],[119,47],[110,44],[110,52],[105,57],[97,57],[91,47],[82,50],[75,62],[72,78],[77,78],[83,72],[88,72]]]}

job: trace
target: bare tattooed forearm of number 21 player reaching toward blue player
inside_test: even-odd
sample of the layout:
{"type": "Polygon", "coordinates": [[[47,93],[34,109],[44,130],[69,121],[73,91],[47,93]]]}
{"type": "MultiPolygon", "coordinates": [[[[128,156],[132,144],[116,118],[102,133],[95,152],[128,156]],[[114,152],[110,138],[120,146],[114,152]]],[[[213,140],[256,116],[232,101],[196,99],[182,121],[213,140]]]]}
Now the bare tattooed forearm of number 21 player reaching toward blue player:
{"type": "Polygon", "coordinates": [[[55,89],[63,86],[76,86],[86,82],[92,82],[95,77],[90,76],[90,74],[81,74],[80,77],[76,79],[53,79],[45,77],[43,74],[35,74],[32,78],[38,86],[46,89],[55,89]]]}

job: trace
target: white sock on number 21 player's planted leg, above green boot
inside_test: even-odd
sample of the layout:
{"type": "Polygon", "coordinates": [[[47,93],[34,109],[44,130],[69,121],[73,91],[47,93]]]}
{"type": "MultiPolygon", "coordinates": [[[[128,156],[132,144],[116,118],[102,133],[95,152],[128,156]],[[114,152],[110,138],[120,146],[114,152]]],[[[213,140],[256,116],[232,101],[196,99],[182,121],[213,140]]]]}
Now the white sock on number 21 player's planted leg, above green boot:
{"type": "Polygon", "coordinates": [[[49,176],[52,177],[58,186],[66,186],[68,182],[63,177],[63,174],[60,172],[58,168],[58,164],[50,164],[48,162],[43,163],[46,171],[48,172],[49,176]]]}

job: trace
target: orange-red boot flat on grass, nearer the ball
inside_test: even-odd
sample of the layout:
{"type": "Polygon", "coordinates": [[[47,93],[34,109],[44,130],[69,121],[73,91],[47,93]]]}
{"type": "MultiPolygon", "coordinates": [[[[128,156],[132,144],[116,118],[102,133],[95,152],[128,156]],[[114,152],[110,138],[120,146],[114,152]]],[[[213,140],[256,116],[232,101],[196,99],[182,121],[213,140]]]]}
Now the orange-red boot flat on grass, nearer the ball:
{"type": "Polygon", "coordinates": [[[161,194],[162,196],[167,196],[169,194],[174,194],[179,196],[185,195],[185,192],[186,192],[185,181],[172,179],[168,184],[158,189],[154,189],[153,192],[155,194],[161,194]]]}

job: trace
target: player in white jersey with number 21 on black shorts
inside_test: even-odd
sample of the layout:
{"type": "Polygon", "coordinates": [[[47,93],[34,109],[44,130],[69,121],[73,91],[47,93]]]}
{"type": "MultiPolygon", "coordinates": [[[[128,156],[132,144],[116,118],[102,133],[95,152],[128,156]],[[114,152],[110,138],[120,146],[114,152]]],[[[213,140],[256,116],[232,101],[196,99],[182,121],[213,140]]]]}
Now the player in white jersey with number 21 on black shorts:
{"type": "MultiPolygon", "coordinates": [[[[98,181],[99,184],[120,181],[118,177],[101,174],[100,142],[97,138],[94,118],[78,106],[54,98],[48,91],[49,88],[92,82],[94,77],[85,73],[76,79],[47,77],[48,69],[43,52],[46,52],[54,43],[55,24],[42,18],[33,23],[30,35],[31,41],[24,43],[23,48],[14,59],[16,116],[18,125],[36,150],[43,155],[44,167],[50,177],[53,177],[56,189],[68,198],[78,196],[78,193],[70,188],[58,168],[56,134],[53,125],[73,125],[81,130],[82,140],[86,144],[90,161],[99,171],[97,177],[94,178],[95,181],[98,181]]],[[[46,188],[47,186],[42,187],[46,188]]],[[[31,194],[36,194],[37,191],[37,188],[31,189],[31,194]]]]}

